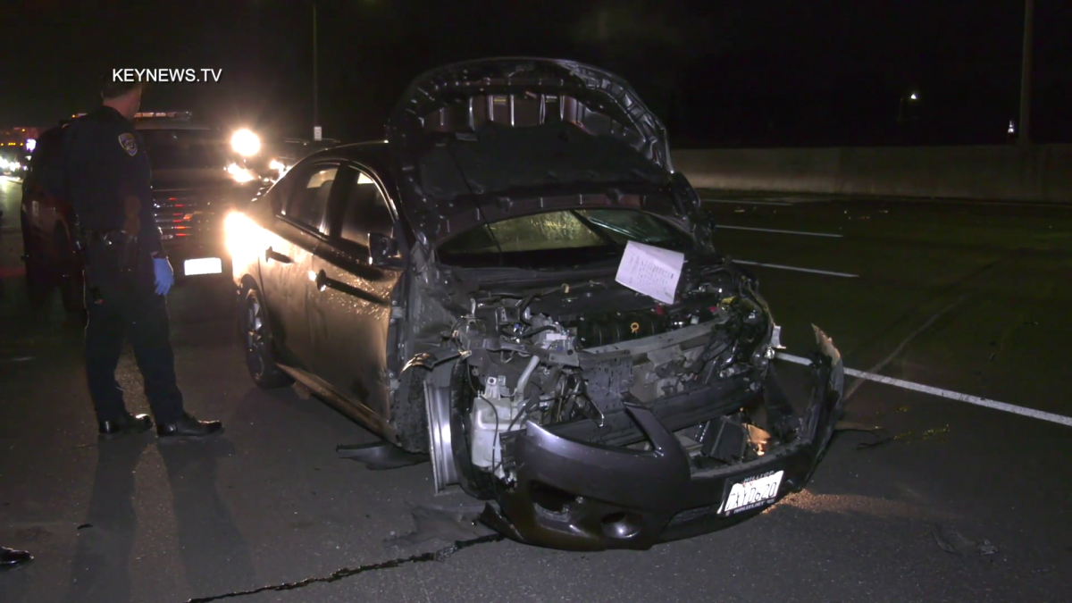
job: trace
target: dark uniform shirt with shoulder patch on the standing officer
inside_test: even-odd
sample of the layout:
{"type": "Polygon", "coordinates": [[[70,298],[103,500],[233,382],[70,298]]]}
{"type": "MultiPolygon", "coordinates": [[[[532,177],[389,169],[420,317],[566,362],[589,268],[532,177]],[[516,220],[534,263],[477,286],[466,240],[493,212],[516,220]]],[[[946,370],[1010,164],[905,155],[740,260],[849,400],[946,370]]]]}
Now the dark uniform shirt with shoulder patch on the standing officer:
{"type": "Polygon", "coordinates": [[[102,105],[65,128],[66,194],[83,229],[122,229],[143,252],[164,256],[151,170],[134,123],[102,105]]]}

